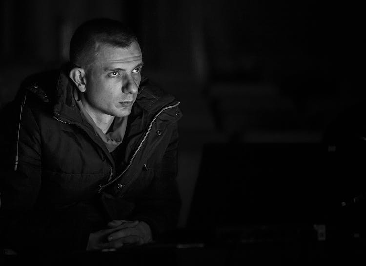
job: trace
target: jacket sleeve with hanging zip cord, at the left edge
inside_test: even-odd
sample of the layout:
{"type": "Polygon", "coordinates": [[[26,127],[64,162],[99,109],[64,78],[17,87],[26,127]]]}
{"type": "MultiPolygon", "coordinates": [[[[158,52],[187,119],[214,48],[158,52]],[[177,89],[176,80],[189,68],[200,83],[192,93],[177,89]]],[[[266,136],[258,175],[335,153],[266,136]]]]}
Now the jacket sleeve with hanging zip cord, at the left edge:
{"type": "Polygon", "coordinates": [[[19,253],[33,254],[85,248],[87,239],[82,236],[77,219],[63,218],[67,215],[61,216],[37,204],[41,189],[42,144],[31,108],[25,104],[20,114],[17,103],[4,111],[9,131],[7,134],[1,132],[0,140],[1,153],[6,154],[5,160],[1,160],[0,176],[2,245],[19,253]],[[18,164],[14,169],[16,155],[18,164]]]}

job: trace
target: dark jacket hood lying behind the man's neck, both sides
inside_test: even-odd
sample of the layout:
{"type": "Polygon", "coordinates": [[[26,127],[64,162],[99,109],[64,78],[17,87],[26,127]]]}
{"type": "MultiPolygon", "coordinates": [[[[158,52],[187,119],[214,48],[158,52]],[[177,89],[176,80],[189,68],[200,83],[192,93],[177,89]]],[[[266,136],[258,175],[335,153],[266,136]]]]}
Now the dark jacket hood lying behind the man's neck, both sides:
{"type": "MultiPolygon", "coordinates": [[[[34,74],[24,80],[19,93],[31,92],[50,107],[53,115],[65,116],[71,120],[83,122],[73,97],[74,82],[69,78],[70,64],[61,69],[34,74]]],[[[142,76],[134,108],[139,107],[145,112],[158,112],[164,106],[175,104],[177,100],[169,93],[155,86],[147,77],[142,76]]]]}

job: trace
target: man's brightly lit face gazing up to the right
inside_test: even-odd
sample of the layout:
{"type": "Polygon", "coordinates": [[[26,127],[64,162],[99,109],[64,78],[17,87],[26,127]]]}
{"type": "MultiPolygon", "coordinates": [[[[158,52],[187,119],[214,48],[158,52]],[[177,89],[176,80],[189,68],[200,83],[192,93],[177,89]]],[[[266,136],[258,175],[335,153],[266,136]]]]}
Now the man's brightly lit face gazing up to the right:
{"type": "Polygon", "coordinates": [[[137,42],[118,48],[101,44],[86,71],[85,101],[95,115],[128,116],[141,81],[142,54],[137,42]]]}

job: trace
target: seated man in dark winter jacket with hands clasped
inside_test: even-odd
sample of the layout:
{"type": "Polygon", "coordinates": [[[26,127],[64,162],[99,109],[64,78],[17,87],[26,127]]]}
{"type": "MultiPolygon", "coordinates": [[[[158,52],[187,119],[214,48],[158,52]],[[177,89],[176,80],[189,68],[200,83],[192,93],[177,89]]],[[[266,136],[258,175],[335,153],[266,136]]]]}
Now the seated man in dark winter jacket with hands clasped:
{"type": "Polygon", "coordinates": [[[95,19],[74,33],[67,67],[23,82],[3,110],[4,247],[108,251],[174,229],[181,112],[142,66],[133,33],[95,19]]]}

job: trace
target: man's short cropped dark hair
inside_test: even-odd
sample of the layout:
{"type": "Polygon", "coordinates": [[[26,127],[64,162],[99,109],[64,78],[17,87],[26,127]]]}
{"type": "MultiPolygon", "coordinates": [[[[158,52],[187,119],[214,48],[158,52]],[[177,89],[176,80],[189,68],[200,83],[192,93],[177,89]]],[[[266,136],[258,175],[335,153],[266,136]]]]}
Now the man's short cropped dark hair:
{"type": "Polygon", "coordinates": [[[88,20],[74,32],[70,42],[70,62],[85,66],[94,60],[98,44],[126,48],[137,38],[122,22],[108,18],[88,20]]]}

